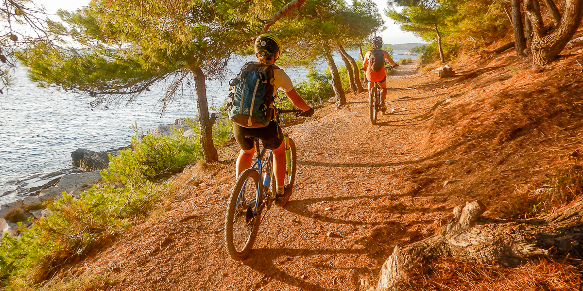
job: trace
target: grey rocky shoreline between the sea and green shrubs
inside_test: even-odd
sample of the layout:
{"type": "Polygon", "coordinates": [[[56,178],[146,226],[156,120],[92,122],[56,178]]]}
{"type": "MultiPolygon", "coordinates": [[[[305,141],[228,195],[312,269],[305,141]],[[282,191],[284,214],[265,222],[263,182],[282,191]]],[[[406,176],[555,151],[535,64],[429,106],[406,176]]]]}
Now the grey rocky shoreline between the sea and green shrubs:
{"type": "MultiPolygon", "coordinates": [[[[159,125],[155,129],[149,130],[149,134],[167,136],[171,134],[173,129],[180,127],[184,128],[183,136],[196,136],[194,129],[186,125],[185,118],[176,119],[174,123],[167,125],[159,125]]],[[[107,169],[110,162],[109,155],[115,157],[120,154],[121,150],[128,148],[132,148],[132,145],[100,152],[79,148],[71,153],[72,165],[75,168],[33,175],[32,178],[36,179],[36,182],[31,184],[34,186],[31,184],[17,186],[16,193],[24,194],[16,197],[15,201],[0,205],[0,232],[2,235],[9,233],[11,236],[21,236],[24,231],[21,231],[22,228],[19,230],[17,222],[22,222],[22,226],[28,229],[33,225],[34,220],[51,215],[51,211],[46,208],[46,205],[53,200],[62,198],[64,192],[78,199],[83,191],[103,179],[100,172],[107,169]],[[31,187],[27,188],[26,186],[31,187]]]]}

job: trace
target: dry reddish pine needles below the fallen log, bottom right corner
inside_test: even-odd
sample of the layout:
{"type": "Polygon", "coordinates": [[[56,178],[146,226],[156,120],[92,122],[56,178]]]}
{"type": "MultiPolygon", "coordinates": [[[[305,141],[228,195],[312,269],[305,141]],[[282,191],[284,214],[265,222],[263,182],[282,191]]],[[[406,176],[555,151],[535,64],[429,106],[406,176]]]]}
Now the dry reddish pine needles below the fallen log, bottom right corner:
{"type": "Polygon", "coordinates": [[[581,272],[566,262],[529,261],[518,268],[500,268],[453,260],[431,264],[433,274],[419,275],[407,290],[573,291],[581,288],[581,272]]]}

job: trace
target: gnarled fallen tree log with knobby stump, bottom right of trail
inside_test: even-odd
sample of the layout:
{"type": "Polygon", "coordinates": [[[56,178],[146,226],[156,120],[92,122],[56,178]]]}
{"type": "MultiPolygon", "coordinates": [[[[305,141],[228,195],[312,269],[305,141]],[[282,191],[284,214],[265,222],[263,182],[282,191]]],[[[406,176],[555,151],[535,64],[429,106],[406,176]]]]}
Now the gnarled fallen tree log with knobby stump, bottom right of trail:
{"type": "Polygon", "coordinates": [[[480,201],[454,208],[447,227],[427,239],[395,247],[382,265],[377,291],[399,290],[411,274],[443,257],[511,268],[540,255],[583,255],[583,200],[554,214],[526,220],[481,217],[480,201]]]}

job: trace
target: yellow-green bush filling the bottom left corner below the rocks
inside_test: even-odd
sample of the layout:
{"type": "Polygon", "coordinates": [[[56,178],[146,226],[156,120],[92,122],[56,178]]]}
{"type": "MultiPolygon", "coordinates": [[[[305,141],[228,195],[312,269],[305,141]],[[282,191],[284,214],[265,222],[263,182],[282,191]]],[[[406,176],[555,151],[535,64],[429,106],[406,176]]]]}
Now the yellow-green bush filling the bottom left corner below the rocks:
{"type": "MultiPolygon", "coordinates": [[[[22,237],[6,234],[0,246],[0,279],[17,290],[47,279],[58,265],[82,255],[93,243],[128,228],[169,193],[168,184],[142,181],[122,188],[93,186],[80,200],[64,197],[48,205],[52,215],[39,219],[22,237]]],[[[10,289],[10,288],[9,288],[10,289]]]]}

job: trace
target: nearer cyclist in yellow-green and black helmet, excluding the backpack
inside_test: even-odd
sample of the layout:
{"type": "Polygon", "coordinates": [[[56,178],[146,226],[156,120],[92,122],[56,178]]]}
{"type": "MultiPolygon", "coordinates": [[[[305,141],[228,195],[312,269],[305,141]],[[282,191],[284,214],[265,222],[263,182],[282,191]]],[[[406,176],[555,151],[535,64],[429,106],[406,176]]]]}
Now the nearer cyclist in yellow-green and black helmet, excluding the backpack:
{"type": "MultiPolygon", "coordinates": [[[[282,69],[275,66],[275,61],[278,60],[279,54],[282,51],[282,45],[279,38],[271,33],[261,34],[255,40],[255,56],[257,62],[270,65],[273,69],[273,86],[274,90],[282,88],[285,91],[287,98],[297,108],[305,111],[303,114],[311,116],[314,114],[314,109],[310,108],[305,101],[297,94],[296,89],[291,83],[291,79],[282,69]]],[[[239,144],[241,151],[237,158],[237,177],[245,169],[251,167],[253,155],[255,153],[254,140],[250,137],[260,139],[265,148],[273,152],[273,170],[275,172],[275,180],[277,185],[277,195],[282,196],[285,193],[286,172],[286,152],[283,143],[283,133],[281,127],[275,120],[271,120],[266,127],[249,128],[233,123],[233,135],[239,144]]]]}

